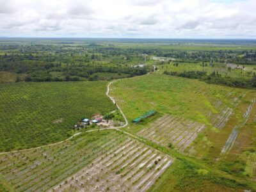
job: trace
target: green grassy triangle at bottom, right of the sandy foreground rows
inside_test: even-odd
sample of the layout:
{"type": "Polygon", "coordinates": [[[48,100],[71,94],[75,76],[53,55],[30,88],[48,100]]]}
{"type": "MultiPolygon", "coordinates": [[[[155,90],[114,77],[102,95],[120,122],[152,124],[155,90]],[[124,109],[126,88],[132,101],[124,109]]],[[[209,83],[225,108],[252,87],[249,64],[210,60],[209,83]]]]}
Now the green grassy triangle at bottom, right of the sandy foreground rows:
{"type": "Polygon", "coordinates": [[[244,191],[242,186],[191,164],[175,161],[148,191],[244,191]]]}

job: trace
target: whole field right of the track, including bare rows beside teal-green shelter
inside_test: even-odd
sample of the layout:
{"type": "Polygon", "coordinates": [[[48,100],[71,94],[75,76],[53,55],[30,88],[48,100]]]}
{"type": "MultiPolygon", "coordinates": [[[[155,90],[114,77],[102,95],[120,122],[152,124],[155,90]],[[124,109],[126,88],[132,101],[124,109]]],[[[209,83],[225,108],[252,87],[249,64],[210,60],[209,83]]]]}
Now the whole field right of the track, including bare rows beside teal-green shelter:
{"type": "Polygon", "coordinates": [[[234,175],[243,177],[245,167],[252,167],[252,160],[230,163],[246,156],[252,159],[255,151],[254,90],[149,74],[113,83],[111,95],[129,122],[150,109],[158,111],[141,124],[130,124],[127,131],[234,175]],[[235,150],[236,145],[242,146],[235,150]],[[241,156],[244,151],[251,154],[241,156]],[[237,171],[236,166],[244,169],[237,171]]]}

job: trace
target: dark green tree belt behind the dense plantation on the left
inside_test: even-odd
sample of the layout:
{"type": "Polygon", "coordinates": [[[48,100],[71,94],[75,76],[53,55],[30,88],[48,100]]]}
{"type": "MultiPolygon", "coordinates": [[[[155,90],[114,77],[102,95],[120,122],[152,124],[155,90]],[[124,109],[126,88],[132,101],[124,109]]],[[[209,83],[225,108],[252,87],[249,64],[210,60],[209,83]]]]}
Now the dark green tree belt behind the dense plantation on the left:
{"type": "MultiPolygon", "coordinates": [[[[47,56],[46,56],[47,57],[47,56]]],[[[47,61],[47,58],[36,60],[31,55],[26,56],[0,56],[0,71],[17,74],[17,81],[99,81],[122,77],[133,77],[147,74],[152,67],[131,67],[131,65],[94,64],[92,62],[72,62],[63,64],[61,61],[47,61]],[[101,76],[99,76],[99,73],[101,76]],[[104,73],[106,76],[104,77],[104,73]],[[20,78],[19,74],[23,78],[20,78]],[[112,74],[112,75],[111,75],[112,74]]]]}

